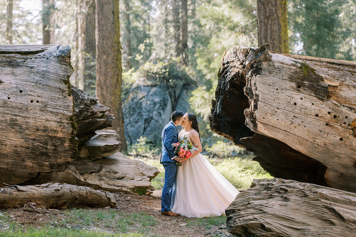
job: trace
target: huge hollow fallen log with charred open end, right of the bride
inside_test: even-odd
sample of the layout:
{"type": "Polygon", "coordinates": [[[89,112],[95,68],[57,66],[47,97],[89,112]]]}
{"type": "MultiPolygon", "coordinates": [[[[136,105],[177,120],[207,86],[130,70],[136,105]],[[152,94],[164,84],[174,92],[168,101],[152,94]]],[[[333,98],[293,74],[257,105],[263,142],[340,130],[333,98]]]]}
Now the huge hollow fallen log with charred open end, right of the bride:
{"type": "Polygon", "coordinates": [[[356,192],[356,63],[232,48],[212,104],[211,130],[276,177],[356,192]]]}

